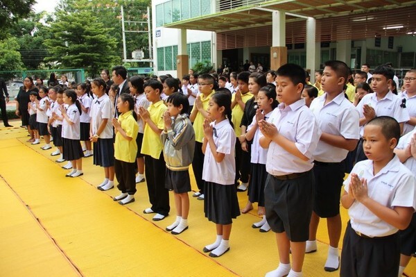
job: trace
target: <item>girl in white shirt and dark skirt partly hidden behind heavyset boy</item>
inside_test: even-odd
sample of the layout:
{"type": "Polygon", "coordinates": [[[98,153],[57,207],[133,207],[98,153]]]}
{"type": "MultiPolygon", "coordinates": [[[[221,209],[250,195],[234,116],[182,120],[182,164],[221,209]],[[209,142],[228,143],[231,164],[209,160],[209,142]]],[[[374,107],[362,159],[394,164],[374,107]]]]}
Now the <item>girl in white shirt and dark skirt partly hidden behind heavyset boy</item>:
{"type": "MultiPolygon", "coordinates": [[[[279,104],[276,100],[276,87],[269,83],[266,87],[261,87],[258,94],[257,110],[251,124],[247,127],[245,138],[251,142],[251,170],[250,185],[248,186],[248,202],[259,203],[257,215],[262,215],[263,219],[252,224],[252,228],[260,228],[259,231],[264,233],[270,230],[266,221],[266,210],[264,208],[264,184],[266,183],[266,159],[267,149],[260,146],[261,132],[259,130],[259,121],[268,119],[279,104]]],[[[241,211],[245,213],[244,211],[241,211]]]]}

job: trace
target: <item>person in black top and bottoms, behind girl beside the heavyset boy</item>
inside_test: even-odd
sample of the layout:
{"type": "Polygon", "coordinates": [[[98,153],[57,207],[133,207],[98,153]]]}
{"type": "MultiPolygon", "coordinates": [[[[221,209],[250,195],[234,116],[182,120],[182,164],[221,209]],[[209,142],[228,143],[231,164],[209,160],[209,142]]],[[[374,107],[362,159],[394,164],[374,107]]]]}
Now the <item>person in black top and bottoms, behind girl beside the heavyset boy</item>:
{"type": "MultiPolygon", "coordinates": [[[[245,138],[245,132],[247,131],[247,127],[252,122],[252,119],[254,115],[256,115],[256,110],[258,108],[257,100],[258,100],[258,94],[261,87],[264,87],[267,85],[266,76],[264,76],[263,73],[254,72],[250,74],[248,78],[248,91],[252,94],[252,98],[245,102],[244,110],[243,110],[243,116],[241,117],[240,122],[240,131],[241,134],[239,137],[240,145],[241,145],[241,157],[240,157],[240,164],[236,164],[237,167],[241,168],[241,171],[245,171],[248,176],[250,172],[250,144],[246,141],[245,138]]],[[[236,95],[236,94],[234,94],[236,95]]],[[[234,115],[233,115],[234,116],[234,115]]],[[[243,177],[242,179],[245,179],[248,177],[243,177]]],[[[247,190],[248,182],[247,183],[241,183],[239,187],[237,187],[238,192],[244,192],[247,190]]],[[[243,214],[246,212],[252,210],[253,206],[250,201],[245,205],[245,208],[241,210],[243,214]]]]}

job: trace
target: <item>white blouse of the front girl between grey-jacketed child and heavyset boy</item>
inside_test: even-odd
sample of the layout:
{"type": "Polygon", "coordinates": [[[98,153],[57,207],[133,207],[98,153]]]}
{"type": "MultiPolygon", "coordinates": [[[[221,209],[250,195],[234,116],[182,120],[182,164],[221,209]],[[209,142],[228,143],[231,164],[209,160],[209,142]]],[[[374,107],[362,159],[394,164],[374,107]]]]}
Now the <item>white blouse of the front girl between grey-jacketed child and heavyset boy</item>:
{"type": "MultiPolygon", "coordinates": [[[[202,180],[220,185],[234,185],[236,178],[235,146],[236,135],[228,119],[211,123],[214,127],[214,143],[218,153],[224,153],[222,162],[216,162],[212,155],[209,143],[205,149],[204,167],[202,169],[202,180]]],[[[205,138],[204,138],[205,140],[205,138]]]]}

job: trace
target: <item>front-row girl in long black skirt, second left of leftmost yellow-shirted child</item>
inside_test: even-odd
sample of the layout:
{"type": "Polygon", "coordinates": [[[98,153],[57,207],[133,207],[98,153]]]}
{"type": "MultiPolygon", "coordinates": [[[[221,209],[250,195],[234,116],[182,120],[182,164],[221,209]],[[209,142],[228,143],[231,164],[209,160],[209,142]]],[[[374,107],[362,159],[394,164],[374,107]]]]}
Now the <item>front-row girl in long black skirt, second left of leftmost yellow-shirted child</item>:
{"type": "Polygon", "coordinates": [[[60,106],[60,112],[64,117],[62,123],[62,150],[63,158],[71,161],[72,171],[67,177],[78,177],[83,173],[83,148],[80,143],[80,113],[81,106],[77,101],[75,90],[65,90],[63,101],[68,105],[67,110],[60,106]]]}

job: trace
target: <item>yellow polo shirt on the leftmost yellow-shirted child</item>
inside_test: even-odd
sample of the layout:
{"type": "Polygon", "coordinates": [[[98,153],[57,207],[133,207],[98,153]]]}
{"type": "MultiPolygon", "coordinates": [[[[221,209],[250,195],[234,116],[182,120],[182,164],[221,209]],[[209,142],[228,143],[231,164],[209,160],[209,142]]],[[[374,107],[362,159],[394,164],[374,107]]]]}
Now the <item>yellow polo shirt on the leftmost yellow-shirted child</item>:
{"type": "Polygon", "coordinates": [[[132,110],[124,112],[119,115],[119,123],[125,133],[132,137],[130,142],[126,140],[121,133],[116,133],[116,142],[114,143],[114,158],[123,162],[136,162],[137,156],[137,133],[139,133],[139,125],[135,117],[132,115],[132,110]]]}

